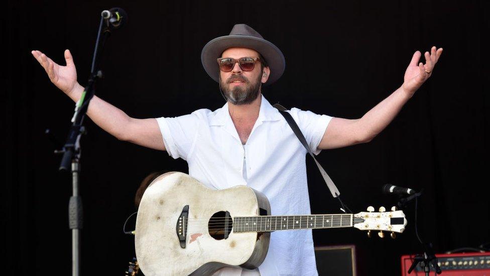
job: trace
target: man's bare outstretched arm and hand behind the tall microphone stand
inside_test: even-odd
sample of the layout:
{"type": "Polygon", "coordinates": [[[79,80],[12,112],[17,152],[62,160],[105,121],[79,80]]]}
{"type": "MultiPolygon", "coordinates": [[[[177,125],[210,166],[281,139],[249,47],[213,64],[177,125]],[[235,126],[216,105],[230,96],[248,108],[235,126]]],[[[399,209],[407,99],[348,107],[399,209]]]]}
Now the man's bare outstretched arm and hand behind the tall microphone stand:
{"type": "MultiPolygon", "coordinates": [[[[51,82],[74,102],[77,102],[85,88],[76,80],[75,64],[70,51],[65,51],[66,66],[58,65],[40,51],[32,51],[31,53],[46,70],[51,82]]],[[[96,96],[90,100],[87,115],[96,125],[119,140],[165,150],[162,133],[156,119],[131,118],[122,110],[96,96]]]]}

